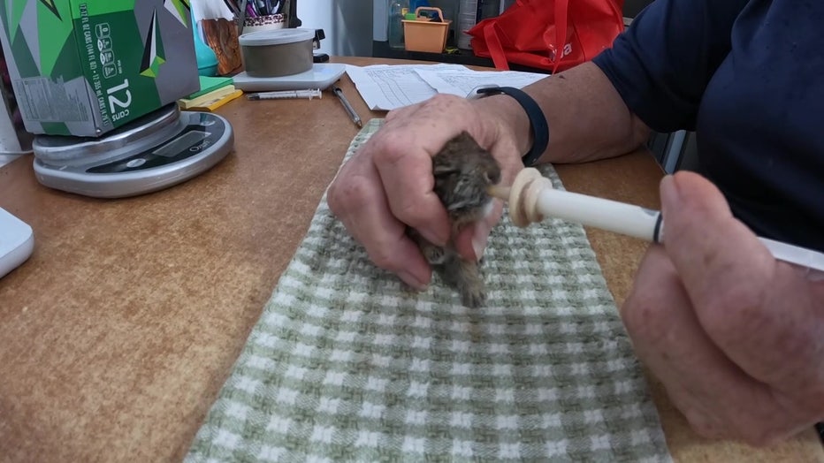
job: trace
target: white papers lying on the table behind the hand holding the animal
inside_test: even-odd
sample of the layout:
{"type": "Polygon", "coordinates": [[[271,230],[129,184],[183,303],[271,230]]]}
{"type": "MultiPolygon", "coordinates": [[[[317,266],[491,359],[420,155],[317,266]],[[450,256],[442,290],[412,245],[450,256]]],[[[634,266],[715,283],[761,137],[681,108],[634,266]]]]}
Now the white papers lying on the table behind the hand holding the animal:
{"type": "Polygon", "coordinates": [[[347,74],[370,110],[396,110],[436,94],[467,96],[484,85],[521,88],[547,74],[473,71],[463,65],[347,65],[347,74]]]}

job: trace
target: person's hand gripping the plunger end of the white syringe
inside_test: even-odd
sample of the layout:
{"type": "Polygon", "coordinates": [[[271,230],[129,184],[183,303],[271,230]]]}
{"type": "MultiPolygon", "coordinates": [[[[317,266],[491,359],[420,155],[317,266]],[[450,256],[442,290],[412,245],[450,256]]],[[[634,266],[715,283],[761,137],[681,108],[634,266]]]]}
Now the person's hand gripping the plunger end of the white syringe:
{"type": "Polygon", "coordinates": [[[824,281],[779,262],[697,174],[660,187],[622,307],[638,357],[698,434],[769,444],[824,418],[824,281]]]}

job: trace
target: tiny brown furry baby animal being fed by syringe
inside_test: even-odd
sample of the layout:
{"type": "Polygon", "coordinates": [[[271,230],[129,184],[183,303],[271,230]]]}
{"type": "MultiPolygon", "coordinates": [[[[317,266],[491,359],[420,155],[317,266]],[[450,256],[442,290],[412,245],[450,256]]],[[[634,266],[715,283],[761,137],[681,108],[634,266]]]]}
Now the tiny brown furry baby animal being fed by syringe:
{"type": "Polygon", "coordinates": [[[464,305],[480,307],[486,301],[486,292],[478,262],[463,259],[455,251],[453,239],[463,226],[482,220],[492,211],[487,188],[500,182],[500,165],[469,133],[463,132],[432,156],[432,173],[435,194],[452,222],[449,241],[445,247],[435,246],[412,228],[407,229],[408,236],[446,283],[461,293],[464,305]]]}

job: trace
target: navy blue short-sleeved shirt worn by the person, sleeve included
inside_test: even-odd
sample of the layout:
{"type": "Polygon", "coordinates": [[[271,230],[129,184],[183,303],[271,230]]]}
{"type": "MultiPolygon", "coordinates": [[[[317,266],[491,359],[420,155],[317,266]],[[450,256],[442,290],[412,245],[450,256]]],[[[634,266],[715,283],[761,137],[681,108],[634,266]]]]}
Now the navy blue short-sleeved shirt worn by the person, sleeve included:
{"type": "Polygon", "coordinates": [[[760,236],[824,251],[824,2],[656,0],[594,63],[760,236]]]}

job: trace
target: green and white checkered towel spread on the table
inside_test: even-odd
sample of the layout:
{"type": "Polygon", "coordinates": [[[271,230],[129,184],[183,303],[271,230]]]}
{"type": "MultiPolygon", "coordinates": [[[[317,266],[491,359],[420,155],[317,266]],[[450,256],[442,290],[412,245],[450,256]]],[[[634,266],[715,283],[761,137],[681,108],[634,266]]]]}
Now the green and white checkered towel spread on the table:
{"type": "Polygon", "coordinates": [[[186,461],[670,461],[584,229],[505,215],[484,273],[409,292],[324,197],[186,461]]]}

